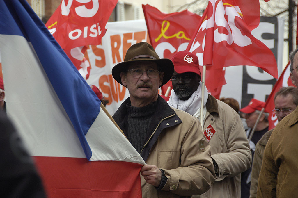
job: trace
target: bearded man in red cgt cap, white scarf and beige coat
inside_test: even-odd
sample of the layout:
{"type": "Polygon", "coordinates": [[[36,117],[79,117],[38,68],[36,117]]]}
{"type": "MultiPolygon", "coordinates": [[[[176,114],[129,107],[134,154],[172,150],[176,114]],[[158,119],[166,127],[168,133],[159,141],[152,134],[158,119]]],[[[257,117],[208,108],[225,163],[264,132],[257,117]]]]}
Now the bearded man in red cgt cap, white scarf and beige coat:
{"type": "Polygon", "coordinates": [[[241,172],[250,167],[251,152],[245,130],[235,110],[207,92],[202,96],[198,57],[187,51],[174,54],[175,72],[169,105],[200,119],[204,98],[203,132],[211,145],[216,180],[203,197],[240,197],[241,172]]]}

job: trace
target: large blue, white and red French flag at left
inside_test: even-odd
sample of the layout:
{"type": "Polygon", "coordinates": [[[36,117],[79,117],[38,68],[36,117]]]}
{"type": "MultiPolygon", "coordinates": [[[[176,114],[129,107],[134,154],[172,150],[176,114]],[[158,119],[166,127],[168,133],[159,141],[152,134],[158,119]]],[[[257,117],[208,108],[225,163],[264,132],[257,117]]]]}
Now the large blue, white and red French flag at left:
{"type": "Polygon", "coordinates": [[[142,197],[139,153],[25,0],[0,0],[8,116],[49,197],[142,197]]]}

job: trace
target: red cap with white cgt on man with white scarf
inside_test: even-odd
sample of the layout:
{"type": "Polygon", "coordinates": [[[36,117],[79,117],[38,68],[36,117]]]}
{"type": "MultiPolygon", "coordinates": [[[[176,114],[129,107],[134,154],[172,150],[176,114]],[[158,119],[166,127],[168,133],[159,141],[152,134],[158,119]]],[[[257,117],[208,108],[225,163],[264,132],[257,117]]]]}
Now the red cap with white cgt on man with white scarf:
{"type": "Polygon", "coordinates": [[[177,52],[172,57],[172,62],[178,74],[191,71],[201,76],[198,57],[191,52],[186,50],[177,52]]]}

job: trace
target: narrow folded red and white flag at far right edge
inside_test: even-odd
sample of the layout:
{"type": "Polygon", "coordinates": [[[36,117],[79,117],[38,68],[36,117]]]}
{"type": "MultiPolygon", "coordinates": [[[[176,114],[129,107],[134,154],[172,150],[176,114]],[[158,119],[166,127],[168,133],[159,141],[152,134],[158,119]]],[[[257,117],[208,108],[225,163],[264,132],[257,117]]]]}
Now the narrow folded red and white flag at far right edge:
{"type": "Polygon", "coordinates": [[[281,87],[288,87],[288,86],[294,86],[290,77],[290,61],[288,62],[285,69],[283,70],[283,73],[280,74],[280,77],[275,83],[265,104],[266,112],[269,112],[269,118],[268,118],[269,130],[273,129],[278,123],[277,116],[273,112],[275,108],[274,95],[281,87]]]}

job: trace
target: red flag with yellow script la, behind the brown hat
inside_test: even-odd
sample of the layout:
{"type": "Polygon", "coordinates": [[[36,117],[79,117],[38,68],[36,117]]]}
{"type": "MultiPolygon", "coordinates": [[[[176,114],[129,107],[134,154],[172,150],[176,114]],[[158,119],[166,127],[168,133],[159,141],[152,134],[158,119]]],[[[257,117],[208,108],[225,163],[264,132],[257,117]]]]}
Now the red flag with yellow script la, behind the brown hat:
{"type": "MultiPolygon", "coordinates": [[[[176,52],[186,49],[196,29],[194,24],[201,16],[187,10],[166,14],[148,4],[142,7],[150,43],[160,58],[171,59],[176,52]]],[[[171,81],[161,87],[162,94],[168,87],[172,87],[171,81]]]]}

